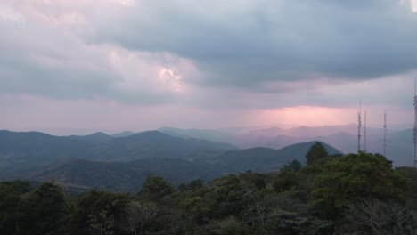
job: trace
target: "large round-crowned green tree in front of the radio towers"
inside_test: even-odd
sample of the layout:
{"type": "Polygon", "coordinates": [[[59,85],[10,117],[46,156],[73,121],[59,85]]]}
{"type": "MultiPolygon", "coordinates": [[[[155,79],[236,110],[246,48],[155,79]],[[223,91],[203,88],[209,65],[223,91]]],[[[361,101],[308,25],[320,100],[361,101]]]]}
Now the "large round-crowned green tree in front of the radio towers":
{"type": "Polygon", "coordinates": [[[325,215],[334,216],[347,203],[360,199],[401,202],[406,188],[403,174],[380,155],[360,152],[335,158],[315,175],[312,196],[325,215]]]}

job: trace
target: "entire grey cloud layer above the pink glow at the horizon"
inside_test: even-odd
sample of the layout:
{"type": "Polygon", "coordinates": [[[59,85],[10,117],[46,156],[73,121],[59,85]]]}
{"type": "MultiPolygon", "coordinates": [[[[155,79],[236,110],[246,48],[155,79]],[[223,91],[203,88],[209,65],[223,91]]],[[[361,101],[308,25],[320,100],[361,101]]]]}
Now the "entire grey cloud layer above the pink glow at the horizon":
{"type": "Polygon", "coordinates": [[[397,0],[5,1],[0,93],[204,109],[413,93],[417,14],[397,0]]]}

